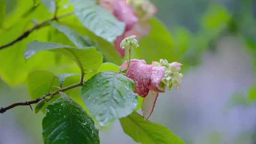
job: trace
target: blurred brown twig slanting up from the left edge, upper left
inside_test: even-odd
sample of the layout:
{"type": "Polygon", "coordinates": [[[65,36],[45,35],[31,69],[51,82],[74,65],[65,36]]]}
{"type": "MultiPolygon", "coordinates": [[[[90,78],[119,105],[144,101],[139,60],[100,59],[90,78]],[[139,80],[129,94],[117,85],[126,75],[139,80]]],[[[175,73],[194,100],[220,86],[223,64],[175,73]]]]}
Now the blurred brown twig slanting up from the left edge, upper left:
{"type": "Polygon", "coordinates": [[[55,16],[54,16],[53,18],[51,18],[51,19],[49,19],[49,20],[46,20],[46,21],[42,22],[41,24],[35,25],[33,28],[27,30],[27,31],[24,32],[21,36],[19,36],[18,38],[14,39],[14,40],[11,41],[10,43],[1,46],[1,47],[0,47],[0,50],[3,49],[3,48],[6,48],[6,47],[12,46],[14,43],[16,43],[16,42],[22,40],[23,38],[27,37],[27,36],[28,36],[31,32],[33,32],[34,30],[37,30],[37,29],[39,29],[40,27],[44,27],[44,26],[49,25],[49,22],[50,22],[50,21],[58,20],[58,19],[63,18],[63,17],[65,17],[65,16],[72,15],[73,13],[74,13],[74,12],[65,13],[65,14],[60,15],[60,16],[58,16],[58,17],[55,17],[55,16]]]}

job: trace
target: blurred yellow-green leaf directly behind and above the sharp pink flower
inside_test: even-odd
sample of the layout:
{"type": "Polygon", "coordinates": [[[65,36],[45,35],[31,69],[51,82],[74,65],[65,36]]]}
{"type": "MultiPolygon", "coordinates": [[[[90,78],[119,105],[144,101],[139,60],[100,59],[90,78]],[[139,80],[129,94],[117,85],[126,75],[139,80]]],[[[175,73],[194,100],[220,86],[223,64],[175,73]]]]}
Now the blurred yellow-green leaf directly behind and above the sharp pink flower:
{"type": "Polygon", "coordinates": [[[139,48],[134,48],[137,55],[147,63],[160,59],[178,61],[179,55],[174,50],[174,41],[169,30],[156,18],[150,19],[149,22],[151,25],[149,35],[141,38],[139,48]]]}

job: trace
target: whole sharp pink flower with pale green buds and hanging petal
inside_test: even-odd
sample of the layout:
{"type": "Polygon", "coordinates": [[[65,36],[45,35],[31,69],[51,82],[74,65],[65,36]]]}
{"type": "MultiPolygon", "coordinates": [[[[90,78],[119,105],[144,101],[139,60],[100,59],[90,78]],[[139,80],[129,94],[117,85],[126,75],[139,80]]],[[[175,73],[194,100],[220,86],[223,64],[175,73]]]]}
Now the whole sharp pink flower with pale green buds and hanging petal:
{"type": "MultiPolygon", "coordinates": [[[[175,89],[177,86],[180,87],[182,74],[178,72],[181,70],[181,65],[178,62],[170,64],[162,59],[160,63],[153,61],[152,64],[146,64],[145,60],[131,60],[126,76],[134,81],[134,93],[144,97],[142,113],[145,120],[152,114],[158,93],[165,92],[166,85],[169,85],[169,89],[171,86],[175,89]]],[[[121,67],[127,68],[127,61],[122,63],[121,67]]]]}

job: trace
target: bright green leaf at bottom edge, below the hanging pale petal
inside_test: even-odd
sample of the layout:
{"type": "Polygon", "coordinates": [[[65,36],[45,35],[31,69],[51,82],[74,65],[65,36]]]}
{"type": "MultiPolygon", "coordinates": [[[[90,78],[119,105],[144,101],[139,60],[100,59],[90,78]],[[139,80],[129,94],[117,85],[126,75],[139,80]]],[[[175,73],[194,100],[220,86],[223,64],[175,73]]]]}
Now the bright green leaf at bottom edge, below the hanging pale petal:
{"type": "Polygon", "coordinates": [[[120,119],[123,131],[135,142],[142,144],[184,144],[181,138],[168,128],[153,123],[134,111],[131,115],[120,119]]]}

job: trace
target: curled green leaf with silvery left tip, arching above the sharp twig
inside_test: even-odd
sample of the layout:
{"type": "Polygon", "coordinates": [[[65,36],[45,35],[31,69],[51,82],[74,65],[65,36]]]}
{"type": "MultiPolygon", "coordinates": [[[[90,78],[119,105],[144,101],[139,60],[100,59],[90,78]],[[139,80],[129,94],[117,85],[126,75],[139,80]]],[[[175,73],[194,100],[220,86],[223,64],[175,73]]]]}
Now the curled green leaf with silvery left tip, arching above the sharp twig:
{"type": "Polygon", "coordinates": [[[75,48],[59,43],[32,41],[26,45],[24,58],[28,59],[41,50],[49,50],[72,59],[85,73],[98,69],[102,64],[102,54],[95,47],[75,48]]]}

